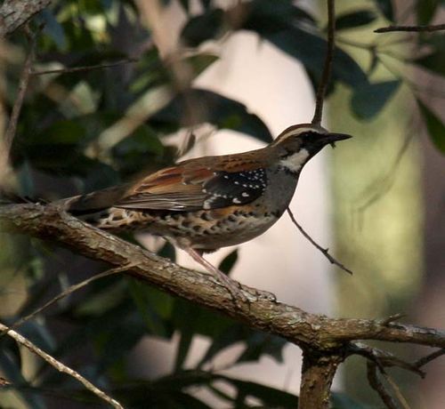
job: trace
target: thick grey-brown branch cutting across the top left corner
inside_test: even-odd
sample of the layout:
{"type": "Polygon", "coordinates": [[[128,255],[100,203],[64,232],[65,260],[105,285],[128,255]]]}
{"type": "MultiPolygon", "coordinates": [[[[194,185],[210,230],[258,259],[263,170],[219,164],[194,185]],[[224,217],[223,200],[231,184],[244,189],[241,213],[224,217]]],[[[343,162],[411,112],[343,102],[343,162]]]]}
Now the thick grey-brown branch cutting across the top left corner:
{"type": "Polygon", "coordinates": [[[51,0],[4,0],[0,7],[0,38],[20,28],[50,3],[51,0]]]}

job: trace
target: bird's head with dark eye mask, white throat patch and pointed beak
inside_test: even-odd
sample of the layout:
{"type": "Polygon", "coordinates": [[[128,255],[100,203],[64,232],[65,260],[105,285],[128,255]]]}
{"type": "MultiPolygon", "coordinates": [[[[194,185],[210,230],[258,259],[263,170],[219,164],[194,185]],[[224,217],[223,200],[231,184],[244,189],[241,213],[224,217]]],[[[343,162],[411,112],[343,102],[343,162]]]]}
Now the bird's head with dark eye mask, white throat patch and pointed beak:
{"type": "Polygon", "coordinates": [[[337,140],[347,140],[350,135],[332,133],[318,124],[298,124],[281,132],[271,147],[276,149],[279,164],[290,172],[299,172],[312,156],[330,144],[333,148],[337,140]]]}

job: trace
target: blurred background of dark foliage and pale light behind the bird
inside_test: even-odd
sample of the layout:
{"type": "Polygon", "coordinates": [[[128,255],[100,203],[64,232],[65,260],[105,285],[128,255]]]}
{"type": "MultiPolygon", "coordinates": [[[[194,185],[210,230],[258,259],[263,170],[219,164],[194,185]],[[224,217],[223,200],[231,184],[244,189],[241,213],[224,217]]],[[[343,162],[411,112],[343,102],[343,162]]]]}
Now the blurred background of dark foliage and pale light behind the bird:
{"type": "MultiPolygon", "coordinates": [[[[354,135],[308,164],[287,215],[262,237],[208,259],[279,301],[330,317],[443,328],[445,41],[443,32],[375,34],[434,24],[441,1],[336,1],[336,58],[324,125],[354,135]]],[[[325,2],[53,1],[30,21],[36,51],[6,188],[53,200],[106,188],[184,158],[264,146],[310,122],[326,50],[325,2]],[[54,71],[53,71],[54,70],[54,71]],[[48,72],[53,71],[53,72],[48,72]]],[[[0,44],[5,129],[30,43],[0,44]]],[[[183,266],[160,239],[125,237],[183,266]]],[[[11,325],[107,266],[28,237],[0,236],[0,317],[11,325]]],[[[142,285],[108,277],[19,330],[125,407],[295,407],[300,350],[285,340],[142,285]]],[[[429,352],[379,345],[412,360],[429,352]]],[[[424,381],[390,372],[413,408],[442,408],[445,364],[424,381]]],[[[89,407],[94,398],[6,337],[0,406],[89,407]]],[[[366,362],[336,376],[337,408],[382,407],[366,362]]]]}

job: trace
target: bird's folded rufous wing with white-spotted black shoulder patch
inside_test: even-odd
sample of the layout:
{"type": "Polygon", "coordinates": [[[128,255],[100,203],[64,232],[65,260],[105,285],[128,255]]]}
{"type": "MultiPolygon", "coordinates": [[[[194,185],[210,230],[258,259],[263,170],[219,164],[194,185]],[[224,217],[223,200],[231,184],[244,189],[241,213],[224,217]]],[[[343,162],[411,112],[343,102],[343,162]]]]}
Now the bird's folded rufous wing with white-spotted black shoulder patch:
{"type": "Polygon", "coordinates": [[[114,206],[196,211],[244,205],[263,194],[267,180],[261,164],[252,161],[240,170],[240,166],[227,166],[221,159],[219,162],[191,160],[153,173],[134,185],[114,206]]]}

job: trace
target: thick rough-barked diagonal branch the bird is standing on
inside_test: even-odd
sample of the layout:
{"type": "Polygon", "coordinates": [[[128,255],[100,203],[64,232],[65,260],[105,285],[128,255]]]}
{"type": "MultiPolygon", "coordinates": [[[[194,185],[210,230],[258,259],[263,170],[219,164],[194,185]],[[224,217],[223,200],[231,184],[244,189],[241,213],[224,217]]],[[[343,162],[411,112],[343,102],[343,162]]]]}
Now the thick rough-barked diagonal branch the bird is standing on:
{"type": "Polygon", "coordinates": [[[277,334],[303,349],[320,351],[341,348],[353,340],[412,342],[445,348],[445,333],[431,328],[398,323],[382,324],[368,319],[333,319],[309,314],[274,301],[272,297],[242,286],[250,305],[240,309],[223,285],[205,273],[183,269],[171,261],[85,224],[54,205],[7,205],[0,207],[0,221],[34,237],[53,240],[76,253],[112,266],[132,265],[129,274],[169,293],[222,311],[252,328],[277,334]]]}

